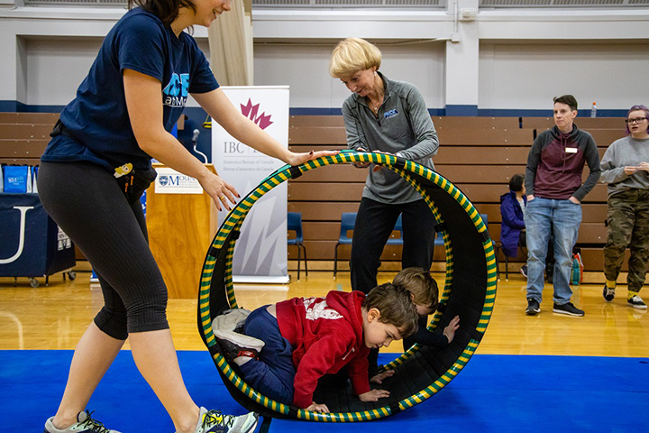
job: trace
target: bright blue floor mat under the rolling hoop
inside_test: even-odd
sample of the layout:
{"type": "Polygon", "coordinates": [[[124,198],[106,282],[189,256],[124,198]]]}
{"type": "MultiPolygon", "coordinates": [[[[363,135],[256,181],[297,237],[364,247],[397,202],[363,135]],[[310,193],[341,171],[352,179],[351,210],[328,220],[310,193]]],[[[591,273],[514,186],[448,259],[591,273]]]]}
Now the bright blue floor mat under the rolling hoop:
{"type": "MultiPolygon", "coordinates": [[[[0,351],[0,432],[41,432],[57,410],[71,351],[0,351]]],[[[381,355],[379,362],[394,356],[381,355]]],[[[197,404],[244,410],[230,397],[207,352],[178,352],[197,404]]],[[[442,391],[397,415],[362,423],[308,422],[309,433],[410,431],[646,432],[649,359],[589,356],[475,355],[442,391]]],[[[121,352],[88,404],[123,433],[173,432],[160,401],[121,352]]],[[[273,419],[271,433],[301,432],[306,421],[273,419]]]]}

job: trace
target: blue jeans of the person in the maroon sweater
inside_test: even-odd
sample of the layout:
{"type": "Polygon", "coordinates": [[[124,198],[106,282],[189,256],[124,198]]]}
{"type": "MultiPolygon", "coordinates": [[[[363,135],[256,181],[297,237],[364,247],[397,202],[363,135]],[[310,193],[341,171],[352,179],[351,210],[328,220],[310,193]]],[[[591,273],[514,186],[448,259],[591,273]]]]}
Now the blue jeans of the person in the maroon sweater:
{"type": "Polygon", "coordinates": [[[554,237],[554,303],[571,300],[572,247],[581,224],[581,205],[570,200],[534,198],[527,201],[527,298],[541,303],[548,239],[554,237]],[[552,231],[552,234],[551,234],[552,231]]]}

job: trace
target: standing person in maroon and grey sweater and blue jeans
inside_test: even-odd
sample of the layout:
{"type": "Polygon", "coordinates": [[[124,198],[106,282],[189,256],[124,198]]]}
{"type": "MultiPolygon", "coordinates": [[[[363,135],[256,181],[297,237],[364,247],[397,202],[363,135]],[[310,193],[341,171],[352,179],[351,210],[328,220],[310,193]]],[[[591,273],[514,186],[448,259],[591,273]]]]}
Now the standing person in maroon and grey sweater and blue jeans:
{"type": "Polygon", "coordinates": [[[548,239],[554,238],[553,312],[583,316],[571,303],[572,248],[581,224],[581,200],[599,180],[599,153],[592,136],[574,119],[577,100],[571,95],[554,98],[555,126],[535,139],[527,156],[525,215],[527,241],[526,314],[541,311],[548,239]],[[581,184],[587,163],[590,174],[581,184]]]}

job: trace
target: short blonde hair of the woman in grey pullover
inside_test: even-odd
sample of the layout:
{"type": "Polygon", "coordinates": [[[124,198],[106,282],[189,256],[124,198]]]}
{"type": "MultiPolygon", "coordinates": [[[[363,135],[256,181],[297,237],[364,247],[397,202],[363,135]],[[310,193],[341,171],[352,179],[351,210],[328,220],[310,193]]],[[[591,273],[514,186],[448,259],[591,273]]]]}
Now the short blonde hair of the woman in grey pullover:
{"type": "Polygon", "coordinates": [[[338,42],[329,62],[329,74],[334,78],[349,77],[359,70],[380,68],[379,49],[361,38],[347,38],[338,42]]]}

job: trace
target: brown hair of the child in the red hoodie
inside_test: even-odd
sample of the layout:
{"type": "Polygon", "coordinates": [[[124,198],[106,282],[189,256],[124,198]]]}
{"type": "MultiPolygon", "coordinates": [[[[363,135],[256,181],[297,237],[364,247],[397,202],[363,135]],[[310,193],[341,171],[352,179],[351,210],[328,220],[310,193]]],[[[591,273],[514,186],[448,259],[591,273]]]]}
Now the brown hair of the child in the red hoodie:
{"type": "Polygon", "coordinates": [[[375,287],[363,300],[362,308],[378,309],[379,322],[397,327],[402,338],[416,333],[419,315],[410,292],[401,286],[386,282],[375,287]]]}

